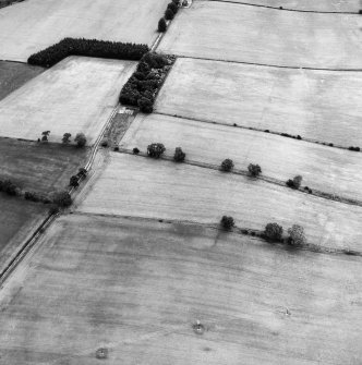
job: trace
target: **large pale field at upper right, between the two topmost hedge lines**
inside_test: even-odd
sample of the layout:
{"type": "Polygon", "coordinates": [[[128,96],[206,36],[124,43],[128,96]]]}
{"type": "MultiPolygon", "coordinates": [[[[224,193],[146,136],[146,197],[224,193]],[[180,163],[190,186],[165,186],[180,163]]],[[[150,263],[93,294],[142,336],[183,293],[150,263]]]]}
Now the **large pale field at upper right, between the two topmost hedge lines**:
{"type": "Polygon", "coordinates": [[[196,1],[167,31],[159,51],[279,66],[362,68],[358,14],[286,12],[196,1]]]}

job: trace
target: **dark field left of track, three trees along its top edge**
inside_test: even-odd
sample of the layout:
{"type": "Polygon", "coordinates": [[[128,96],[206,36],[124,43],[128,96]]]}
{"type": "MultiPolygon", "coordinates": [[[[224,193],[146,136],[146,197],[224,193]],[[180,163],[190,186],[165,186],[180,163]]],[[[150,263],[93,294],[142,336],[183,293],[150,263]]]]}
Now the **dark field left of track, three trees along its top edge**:
{"type": "Polygon", "coordinates": [[[0,180],[22,190],[51,193],[64,190],[70,177],[86,163],[89,148],[0,138],[0,180]]]}

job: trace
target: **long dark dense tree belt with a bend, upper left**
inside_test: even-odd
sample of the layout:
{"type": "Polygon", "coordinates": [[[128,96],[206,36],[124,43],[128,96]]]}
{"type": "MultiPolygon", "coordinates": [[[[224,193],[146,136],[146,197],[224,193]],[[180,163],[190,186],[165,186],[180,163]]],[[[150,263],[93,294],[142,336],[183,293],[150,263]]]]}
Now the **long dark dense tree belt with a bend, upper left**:
{"type": "Polygon", "coordinates": [[[138,61],[148,51],[149,48],[147,45],[85,38],[64,38],[60,42],[32,54],[27,63],[50,68],[69,56],[138,61]]]}

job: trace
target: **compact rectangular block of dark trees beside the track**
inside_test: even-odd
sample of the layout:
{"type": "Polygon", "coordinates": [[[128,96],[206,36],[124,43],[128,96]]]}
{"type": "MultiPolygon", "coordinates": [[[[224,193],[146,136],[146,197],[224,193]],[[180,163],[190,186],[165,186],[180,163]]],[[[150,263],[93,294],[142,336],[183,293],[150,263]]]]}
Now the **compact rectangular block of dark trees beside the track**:
{"type": "Polygon", "coordinates": [[[120,102],[138,107],[144,113],[153,112],[155,97],[173,62],[173,56],[154,52],[144,54],[136,71],[122,88],[120,102]]]}

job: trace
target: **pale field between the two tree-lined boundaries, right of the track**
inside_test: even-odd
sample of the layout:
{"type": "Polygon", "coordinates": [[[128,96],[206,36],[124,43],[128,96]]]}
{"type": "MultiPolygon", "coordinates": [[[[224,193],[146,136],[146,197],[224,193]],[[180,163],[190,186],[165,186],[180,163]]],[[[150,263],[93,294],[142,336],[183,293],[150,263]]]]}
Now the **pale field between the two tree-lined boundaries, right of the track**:
{"type": "MultiPolygon", "coordinates": [[[[276,221],[301,224],[307,241],[361,250],[362,208],[220,171],[111,153],[79,211],[218,223],[264,229],[276,221]]],[[[82,194],[82,193],[81,193],[82,194]]]]}

